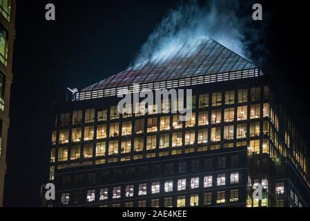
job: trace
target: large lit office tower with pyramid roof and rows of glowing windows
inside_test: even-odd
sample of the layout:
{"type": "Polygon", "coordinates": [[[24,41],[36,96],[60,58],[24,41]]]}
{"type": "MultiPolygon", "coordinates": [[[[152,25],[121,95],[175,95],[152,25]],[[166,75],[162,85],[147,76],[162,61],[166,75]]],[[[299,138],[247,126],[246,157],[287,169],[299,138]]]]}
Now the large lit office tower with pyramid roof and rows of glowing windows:
{"type": "Polygon", "coordinates": [[[289,116],[254,64],[189,41],[56,106],[49,206],[309,206],[309,148],[289,116]],[[180,98],[117,111],[119,93],[164,88],[192,90],[187,121],[180,98]]]}

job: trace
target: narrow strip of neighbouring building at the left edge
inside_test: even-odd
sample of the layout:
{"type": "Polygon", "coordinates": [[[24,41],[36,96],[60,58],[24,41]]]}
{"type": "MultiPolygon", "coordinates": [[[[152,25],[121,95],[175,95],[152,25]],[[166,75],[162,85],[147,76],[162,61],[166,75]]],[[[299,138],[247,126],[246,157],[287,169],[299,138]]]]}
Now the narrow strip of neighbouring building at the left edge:
{"type": "Polygon", "coordinates": [[[10,126],[9,106],[15,38],[15,0],[0,0],[0,206],[6,175],[6,146],[10,126]]]}

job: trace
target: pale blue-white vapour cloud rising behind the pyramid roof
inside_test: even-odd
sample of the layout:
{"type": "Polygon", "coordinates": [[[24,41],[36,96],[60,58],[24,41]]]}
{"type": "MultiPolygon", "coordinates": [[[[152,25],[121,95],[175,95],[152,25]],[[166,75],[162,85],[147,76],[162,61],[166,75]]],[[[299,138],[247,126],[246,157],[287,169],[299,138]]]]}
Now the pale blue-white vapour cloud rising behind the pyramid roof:
{"type": "MultiPolygon", "coordinates": [[[[182,4],[171,10],[148,36],[134,64],[157,55],[169,55],[189,40],[209,37],[249,59],[246,40],[242,32],[242,21],[236,15],[235,1],[209,1],[200,6],[197,1],[182,4]]],[[[251,17],[251,10],[249,10],[251,17]]]]}

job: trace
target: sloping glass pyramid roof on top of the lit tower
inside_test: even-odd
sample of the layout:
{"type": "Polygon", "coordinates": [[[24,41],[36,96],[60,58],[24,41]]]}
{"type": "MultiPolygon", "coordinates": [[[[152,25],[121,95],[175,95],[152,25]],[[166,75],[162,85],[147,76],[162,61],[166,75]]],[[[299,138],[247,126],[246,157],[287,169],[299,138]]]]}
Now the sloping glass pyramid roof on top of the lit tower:
{"type": "Polygon", "coordinates": [[[93,84],[81,92],[257,68],[213,39],[200,37],[93,84]]]}

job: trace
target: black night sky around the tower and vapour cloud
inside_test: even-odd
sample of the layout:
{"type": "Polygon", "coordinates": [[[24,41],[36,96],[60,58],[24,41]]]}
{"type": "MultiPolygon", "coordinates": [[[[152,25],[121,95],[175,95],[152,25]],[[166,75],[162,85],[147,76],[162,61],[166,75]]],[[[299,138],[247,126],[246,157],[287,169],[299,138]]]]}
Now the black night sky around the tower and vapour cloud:
{"type": "MultiPolygon", "coordinates": [[[[48,177],[53,103],[64,102],[67,87],[81,89],[127,68],[156,24],[180,2],[18,1],[5,206],[39,206],[39,188],[48,177]],[[56,21],[45,20],[46,3],[55,3],[56,21]]],[[[242,2],[248,8],[244,15],[251,16],[251,4],[242,2]]],[[[264,73],[279,82],[310,135],[309,12],[300,2],[256,2],[269,18],[260,21],[268,28],[258,37],[266,51],[253,53],[262,57],[264,73]]]]}

